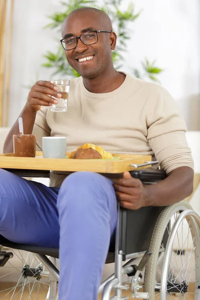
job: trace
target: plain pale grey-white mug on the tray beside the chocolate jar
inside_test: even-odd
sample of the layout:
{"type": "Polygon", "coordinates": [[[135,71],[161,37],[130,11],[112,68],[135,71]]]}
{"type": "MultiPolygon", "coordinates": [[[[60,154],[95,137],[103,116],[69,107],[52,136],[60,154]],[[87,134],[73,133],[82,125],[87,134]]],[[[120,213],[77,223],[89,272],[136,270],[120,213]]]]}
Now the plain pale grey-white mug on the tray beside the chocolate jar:
{"type": "Polygon", "coordinates": [[[65,136],[43,136],[42,150],[44,158],[65,158],[66,137],[65,136]]]}

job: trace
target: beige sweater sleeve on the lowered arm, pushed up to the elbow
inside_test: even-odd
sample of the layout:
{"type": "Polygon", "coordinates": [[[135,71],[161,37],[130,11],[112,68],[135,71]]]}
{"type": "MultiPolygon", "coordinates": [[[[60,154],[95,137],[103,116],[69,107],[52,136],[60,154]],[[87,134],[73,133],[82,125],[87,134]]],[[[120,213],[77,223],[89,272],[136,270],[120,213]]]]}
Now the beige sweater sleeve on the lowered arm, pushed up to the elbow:
{"type": "Polygon", "coordinates": [[[193,168],[184,120],[174,99],[164,88],[154,93],[146,122],[149,145],[166,173],[180,166],[193,168]]]}

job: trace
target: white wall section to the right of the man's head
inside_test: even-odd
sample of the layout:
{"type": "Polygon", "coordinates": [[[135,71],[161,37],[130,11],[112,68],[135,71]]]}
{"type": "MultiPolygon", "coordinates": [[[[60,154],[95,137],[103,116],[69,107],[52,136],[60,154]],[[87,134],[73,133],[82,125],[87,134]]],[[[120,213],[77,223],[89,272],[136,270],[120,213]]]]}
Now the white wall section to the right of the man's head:
{"type": "Polygon", "coordinates": [[[144,8],[135,21],[128,60],[143,57],[165,69],[159,79],[178,102],[188,124],[188,96],[200,90],[199,0],[135,0],[144,8]]]}

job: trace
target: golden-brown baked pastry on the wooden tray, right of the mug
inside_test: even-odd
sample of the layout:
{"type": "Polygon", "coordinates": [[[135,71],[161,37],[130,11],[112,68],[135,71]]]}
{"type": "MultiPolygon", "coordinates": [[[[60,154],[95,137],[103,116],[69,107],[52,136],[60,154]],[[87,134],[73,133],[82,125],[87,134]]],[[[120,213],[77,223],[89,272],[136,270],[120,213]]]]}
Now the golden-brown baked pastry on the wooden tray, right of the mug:
{"type": "Polygon", "coordinates": [[[112,159],[113,156],[110,152],[103,150],[101,146],[96,146],[92,143],[85,143],[72,151],[68,158],[75,159],[112,159]]]}

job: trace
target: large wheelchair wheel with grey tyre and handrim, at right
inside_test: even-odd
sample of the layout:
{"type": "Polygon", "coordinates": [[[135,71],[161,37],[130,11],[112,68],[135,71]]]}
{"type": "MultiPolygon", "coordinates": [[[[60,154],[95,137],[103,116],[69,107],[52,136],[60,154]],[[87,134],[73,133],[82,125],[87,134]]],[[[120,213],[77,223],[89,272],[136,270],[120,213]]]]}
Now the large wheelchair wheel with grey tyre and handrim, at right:
{"type": "Polygon", "coordinates": [[[200,299],[199,217],[196,214],[194,219],[191,209],[181,201],[163,208],[157,219],[144,273],[144,291],[150,300],[200,299]]]}

